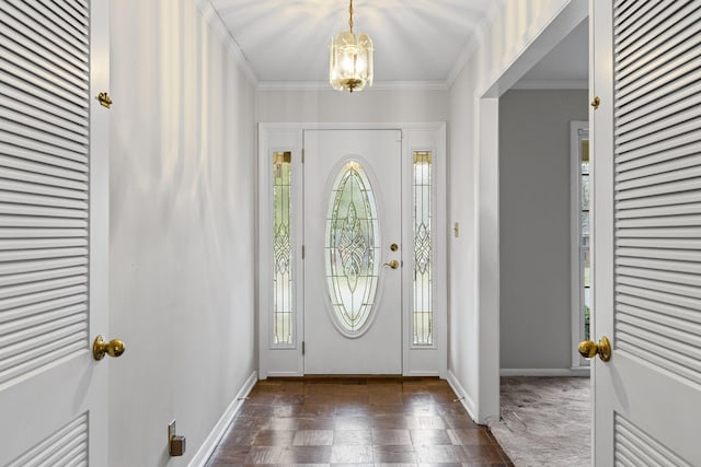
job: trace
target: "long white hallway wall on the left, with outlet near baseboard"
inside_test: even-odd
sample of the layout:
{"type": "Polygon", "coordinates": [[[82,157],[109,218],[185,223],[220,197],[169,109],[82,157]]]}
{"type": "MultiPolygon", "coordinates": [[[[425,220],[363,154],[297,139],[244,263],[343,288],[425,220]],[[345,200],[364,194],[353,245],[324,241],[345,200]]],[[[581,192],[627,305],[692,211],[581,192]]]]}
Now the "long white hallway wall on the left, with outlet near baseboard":
{"type": "Polygon", "coordinates": [[[183,466],[255,370],[255,91],[193,0],[111,25],[110,462],[183,466]]]}

